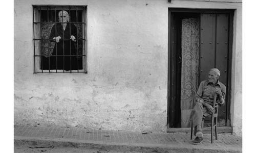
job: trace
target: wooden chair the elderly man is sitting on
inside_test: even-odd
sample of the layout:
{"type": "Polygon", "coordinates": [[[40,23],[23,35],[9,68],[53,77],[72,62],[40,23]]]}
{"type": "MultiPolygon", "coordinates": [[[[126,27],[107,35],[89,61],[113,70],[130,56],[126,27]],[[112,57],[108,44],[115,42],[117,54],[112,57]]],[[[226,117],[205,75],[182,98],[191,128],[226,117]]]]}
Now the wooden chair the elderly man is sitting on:
{"type": "MultiPolygon", "coordinates": [[[[210,142],[213,143],[214,142],[214,137],[212,136],[212,133],[214,133],[214,127],[215,127],[215,138],[216,140],[218,140],[218,133],[217,133],[217,123],[218,123],[218,109],[219,106],[218,104],[216,104],[216,99],[217,99],[217,95],[214,95],[214,112],[211,114],[211,120],[205,120],[205,121],[211,121],[211,127],[210,127],[210,142]]],[[[190,139],[192,139],[193,137],[193,112],[191,113],[191,129],[190,129],[190,139]]],[[[202,120],[202,131],[203,131],[203,127],[204,127],[204,119],[202,120]]]]}

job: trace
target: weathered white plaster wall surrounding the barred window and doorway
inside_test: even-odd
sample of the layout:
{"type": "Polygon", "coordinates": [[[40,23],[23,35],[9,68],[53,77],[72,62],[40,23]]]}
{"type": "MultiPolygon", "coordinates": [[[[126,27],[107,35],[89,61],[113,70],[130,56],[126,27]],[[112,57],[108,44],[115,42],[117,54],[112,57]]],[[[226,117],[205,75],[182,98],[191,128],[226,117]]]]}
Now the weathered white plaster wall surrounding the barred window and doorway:
{"type": "MultiPolygon", "coordinates": [[[[158,0],[15,0],[15,124],[164,132],[168,7],[232,8],[242,14],[241,6],[239,3],[189,1],[169,4],[158,0]],[[88,74],[33,74],[32,4],[87,6],[88,74]]],[[[242,38],[242,16],[237,15],[237,18],[234,31],[238,34],[234,40],[242,38]]],[[[233,52],[242,53],[242,42],[235,43],[233,52]]],[[[236,66],[232,72],[241,69],[236,66]]],[[[242,88],[234,84],[232,89],[242,88]]],[[[237,96],[233,95],[233,99],[237,96]]],[[[242,104],[240,100],[233,101],[242,104]]],[[[233,124],[241,120],[241,114],[236,113],[239,111],[233,109],[234,118],[239,120],[234,120],[233,124]]]]}

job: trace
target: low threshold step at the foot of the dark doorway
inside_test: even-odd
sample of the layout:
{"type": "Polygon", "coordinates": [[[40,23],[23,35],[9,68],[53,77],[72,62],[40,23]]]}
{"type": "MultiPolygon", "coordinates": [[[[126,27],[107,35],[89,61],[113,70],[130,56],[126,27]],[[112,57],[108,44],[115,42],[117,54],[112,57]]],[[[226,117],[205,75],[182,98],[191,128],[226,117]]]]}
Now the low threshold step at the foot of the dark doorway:
{"type": "MultiPolygon", "coordinates": [[[[215,130],[215,129],[214,129],[215,130]]],[[[231,126],[217,126],[218,133],[232,133],[231,126]]],[[[167,128],[167,133],[190,133],[190,127],[167,128]]],[[[204,127],[203,133],[210,133],[210,127],[204,127]]]]}

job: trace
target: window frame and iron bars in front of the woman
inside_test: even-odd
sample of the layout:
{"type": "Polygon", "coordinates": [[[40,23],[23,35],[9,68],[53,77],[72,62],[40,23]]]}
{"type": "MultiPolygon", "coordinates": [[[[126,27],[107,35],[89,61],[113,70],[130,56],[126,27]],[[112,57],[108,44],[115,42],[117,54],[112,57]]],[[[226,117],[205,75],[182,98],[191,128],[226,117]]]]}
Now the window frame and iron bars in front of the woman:
{"type": "MultiPolygon", "coordinates": [[[[33,69],[34,73],[87,73],[87,6],[84,5],[32,5],[33,10],[33,69]],[[47,10],[47,22],[41,21],[41,11],[47,10]],[[82,69],[65,70],[65,69],[51,69],[49,60],[49,69],[42,68],[42,56],[41,55],[41,40],[50,40],[41,38],[41,24],[42,23],[60,23],[57,22],[56,14],[59,10],[76,11],[76,22],[69,22],[70,24],[81,24],[82,37],[76,38],[82,41],[82,54],[76,55],[82,59],[82,69]],[[55,22],[49,22],[49,11],[55,11],[55,22]],[[78,11],[81,11],[81,22],[78,22],[78,11]],[[38,41],[38,42],[36,42],[38,41]]],[[[77,30],[78,34],[78,30],[77,30]]],[[[78,35],[77,35],[78,37],[78,35]]],[[[78,43],[77,43],[78,47],[78,43]]],[[[65,49],[65,48],[64,48],[65,49]]],[[[78,49],[78,48],[77,48],[78,49]]],[[[72,55],[67,55],[72,57],[72,55]]],[[[55,56],[56,57],[56,56],[55,56]]],[[[50,58],[49,58],[50,59],[50,58]]]]}

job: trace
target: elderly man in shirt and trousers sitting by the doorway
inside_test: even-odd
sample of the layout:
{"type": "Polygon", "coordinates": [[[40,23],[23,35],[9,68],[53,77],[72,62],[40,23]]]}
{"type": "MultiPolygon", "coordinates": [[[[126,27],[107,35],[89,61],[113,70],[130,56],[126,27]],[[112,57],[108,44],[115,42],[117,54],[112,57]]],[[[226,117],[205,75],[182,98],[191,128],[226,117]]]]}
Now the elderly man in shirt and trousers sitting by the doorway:
{"type": "Polygon", "coordinates": [[[219,81],[220,71],[217,68],[210,69],[208,80],[200,83],[196,95],[196,105],[193,108],[193,125],[195,126],[196,139],[193,144],[200,144],[203,141],[202,119],[214,112],[214,95],[217,94],[217,104],[225,104],[226,86],[219,81]]]}

